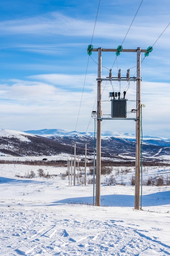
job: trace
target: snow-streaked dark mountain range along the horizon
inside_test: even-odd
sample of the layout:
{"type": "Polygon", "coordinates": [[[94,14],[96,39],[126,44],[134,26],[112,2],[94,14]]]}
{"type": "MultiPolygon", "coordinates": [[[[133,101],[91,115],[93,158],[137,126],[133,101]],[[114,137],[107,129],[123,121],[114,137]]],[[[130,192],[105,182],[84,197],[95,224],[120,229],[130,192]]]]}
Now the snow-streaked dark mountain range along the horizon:
{"type": "MultiPolygon", "coordinates": [[[[85,143],[87,143],[88,155],[93,155],[93,132],[61,129],[27,130],[24,132],[0,130],[0,152],[2,154],[16,156],[73,154],[74,143],[76,143],[78,155],[84,155],[85,143]]],[[[142,157],[145,161],[164,161],[168,159],[169,155],[170,139],[143,137],[142,157]]],[[[135,160],[135,135],[103,132],[102,157],[114,160],[135,160]]]]}

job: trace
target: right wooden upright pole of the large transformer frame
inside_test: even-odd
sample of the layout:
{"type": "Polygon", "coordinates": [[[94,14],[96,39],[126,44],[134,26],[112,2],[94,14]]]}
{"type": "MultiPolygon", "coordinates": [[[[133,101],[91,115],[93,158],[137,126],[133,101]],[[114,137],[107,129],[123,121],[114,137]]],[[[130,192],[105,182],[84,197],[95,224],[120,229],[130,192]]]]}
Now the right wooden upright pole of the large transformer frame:
{"type": "Polygon", "coordinates": [[[137,48],[135,209],[139,210],[141,156],[141,48],[137,48]]]}

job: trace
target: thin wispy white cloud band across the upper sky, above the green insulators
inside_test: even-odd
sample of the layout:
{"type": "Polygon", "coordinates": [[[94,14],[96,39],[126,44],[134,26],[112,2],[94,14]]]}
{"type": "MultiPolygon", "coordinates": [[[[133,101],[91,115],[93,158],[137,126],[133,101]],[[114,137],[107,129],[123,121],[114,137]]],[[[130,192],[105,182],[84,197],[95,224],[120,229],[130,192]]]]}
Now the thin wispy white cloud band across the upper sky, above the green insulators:
{"type": "MultiPolygon", "coordinates": [[[[135,40],[136,42],[144,42],[147,40],[154,41],[155,35],[162,32],[162,27],[167,24],[168,17],[163,16],[157,25],[151,17],[140,17],[135,20],[129,31],[126,40],[135,40]],[[141,19],[143,20],[141,25],[141,19]],[[145,38],[144,38],[145,36],[145,38]]],[[[95,37],[114,38],[117,40],[125,36],[130,22],[128,16],[114,16],[114,19],[106,19],[106,21],[98,21],[95,27],[95,37]]],[[[71,16],[63,15],[59,12],[49,13],[44,16],[35,18],[27,18],[22,20],[8,20],[0,22],[1,34],[32,34],[34,36],[44,34],[62,35],[62,36],[91,36],[93,32],[93,20],[81,20],[71,16]]],[[[168,35],[170,31],[168,32],[168,35]]],[[[40,50],[40,49],[39,49],[40,50]]]]}

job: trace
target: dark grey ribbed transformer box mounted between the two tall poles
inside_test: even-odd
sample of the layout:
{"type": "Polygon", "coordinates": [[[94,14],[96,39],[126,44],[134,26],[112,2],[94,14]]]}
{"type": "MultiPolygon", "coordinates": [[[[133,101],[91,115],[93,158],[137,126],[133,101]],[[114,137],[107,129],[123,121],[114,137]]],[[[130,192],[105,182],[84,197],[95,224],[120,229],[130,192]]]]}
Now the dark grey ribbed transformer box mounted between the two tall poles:
{"type": "Polygon", "coordinates": [[[126,118],[127,99],[111,99],[111,117],[126,118]]]}

